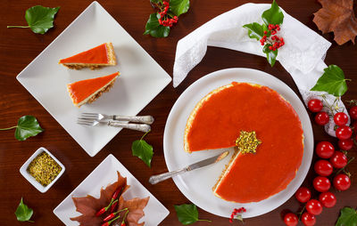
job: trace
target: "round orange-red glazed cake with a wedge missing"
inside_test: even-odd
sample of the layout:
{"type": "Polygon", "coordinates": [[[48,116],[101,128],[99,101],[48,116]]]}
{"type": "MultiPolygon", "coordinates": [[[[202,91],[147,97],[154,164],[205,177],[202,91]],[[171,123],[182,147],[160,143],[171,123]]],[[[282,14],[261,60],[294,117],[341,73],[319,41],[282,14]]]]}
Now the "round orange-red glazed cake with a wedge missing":
{"type": "Polygon", "coordinates": [[[249,203],[285,190],[302,163],[303,128],[291,104],[267,86],[233,82],[207,94],[187,120],[184,147],[232,148],[242,131],[261,143],[255,153],[236,149],[213,193],[249,203]]]}

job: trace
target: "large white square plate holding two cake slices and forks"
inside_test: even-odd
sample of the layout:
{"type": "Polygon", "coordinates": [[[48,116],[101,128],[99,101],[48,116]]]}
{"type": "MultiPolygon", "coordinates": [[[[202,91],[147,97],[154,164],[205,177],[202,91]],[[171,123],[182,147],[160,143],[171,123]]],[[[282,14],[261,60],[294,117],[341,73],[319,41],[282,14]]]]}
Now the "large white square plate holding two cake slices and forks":
{"type": "Polygon", "coordinates": [[[81,112],[135,116],[171,81],[171,77],[97,2],[90,4],[17,77],[29,93],[93,157],[120,132],[108,126],[77,125],[81,112]],[[62,58],[99,44],[112,42],[118,65],[103,69],[72,70],[58,64],[62,58]],[[75,107],[67,84],[120,71],[109,93],[92,104],[75,107]]]}

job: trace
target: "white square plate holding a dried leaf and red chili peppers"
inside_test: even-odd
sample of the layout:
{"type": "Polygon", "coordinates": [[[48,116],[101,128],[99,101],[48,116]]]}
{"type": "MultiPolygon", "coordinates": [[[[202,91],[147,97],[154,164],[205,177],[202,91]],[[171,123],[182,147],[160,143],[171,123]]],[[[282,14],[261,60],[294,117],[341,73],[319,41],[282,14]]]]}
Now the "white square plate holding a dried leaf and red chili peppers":
{"type": "Polygon", "coordinates": [[[169,214],[169,210],[166,209],[165,206],[162,206],[159,200],[146,190],[145,187],[130,174],[124,165],[121,165],[118,159],[112,155],[106,157],[67,198],[64,198],[60,205],[55,207],[54,214],[65,225],[79,225],[79,222],[73,222],[70,219],[71,217],[80,215],[76,212],[76,206],[73,204],[72,197],[91,195],[95,198],[99,198],[102,187],[105,188],[108,184],[117,181],[117,171],[121,176],[127,177],[127,182],[130,185],[130,189],[123,194],[124,199],[150,197],[147,206],[144,208],[145,216],[139,222],[145,222],[147,226],[159,225],[169,214]]]}

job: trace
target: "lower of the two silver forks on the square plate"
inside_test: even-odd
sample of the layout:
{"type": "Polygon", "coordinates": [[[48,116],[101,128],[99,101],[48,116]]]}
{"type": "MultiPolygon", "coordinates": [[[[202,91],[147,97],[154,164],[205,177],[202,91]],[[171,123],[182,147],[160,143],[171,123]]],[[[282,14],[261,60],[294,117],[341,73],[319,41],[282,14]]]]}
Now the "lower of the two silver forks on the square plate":
{"type": "Polygon", "coordinates": [[[85,119],[85,118],[79,118],[77,120],[77,123],[79,125],[87,125],[87,126],[109,125],[112,127],[126,128],[126,129],[137,130],[145,133],[151,130],[150,125],[146,125],[146,124],[127,124],[127,123],[120,123],[120,122],[113,122],[113,121],[104,122],[104,121],[97,121],[97,120],[85,119]]]}

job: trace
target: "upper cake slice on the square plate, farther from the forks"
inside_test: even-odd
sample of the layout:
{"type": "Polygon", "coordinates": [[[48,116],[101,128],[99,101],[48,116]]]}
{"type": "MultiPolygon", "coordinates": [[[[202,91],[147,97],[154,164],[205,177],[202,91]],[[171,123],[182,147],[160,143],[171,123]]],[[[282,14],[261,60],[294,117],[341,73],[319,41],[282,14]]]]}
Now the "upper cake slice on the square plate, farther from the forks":
{"type": "Polygon", "coordinates": [[[61,59],[58,63],[69,69],[98,69],[116,65],[117,61],[112,43],[104,43],[85,52],[79,52],[71,57],[61,59]]]}

